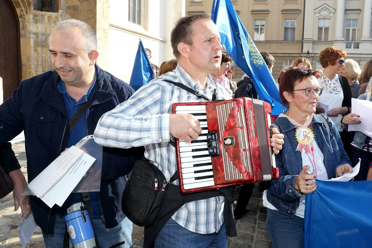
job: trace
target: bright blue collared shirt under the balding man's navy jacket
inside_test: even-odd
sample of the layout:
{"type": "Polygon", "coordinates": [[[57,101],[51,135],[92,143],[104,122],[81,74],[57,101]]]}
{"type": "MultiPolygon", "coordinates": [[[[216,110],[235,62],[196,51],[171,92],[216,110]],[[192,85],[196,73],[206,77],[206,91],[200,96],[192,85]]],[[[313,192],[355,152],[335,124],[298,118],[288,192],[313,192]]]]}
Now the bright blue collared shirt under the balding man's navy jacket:
{"type": "MultiPolygon", "coordinates": [[[[89,88],[87,93],[79,101],[76,102],[75,99],[72,96],[70,96],[70,94],[67,92],[64,82],[62,81],[62,79],[60,79],[60,82],[58,83],[58,90],[59,92],[62,93],[63,100],[65,102],[68,121],[70,121],[71,118],[74,116],[79,106],[83,104],[84,102],[87,102],[87,98],[92,98],[93,92],[94,92],[94,86],[96,85],[96,80],[97,80],[97,76],[95,77],[93,85],[89,88]]],[[[87,115],[87,109],[84,111],[84,114],[81,115],[79,121],[76,123],[75,127],[71,131],[70,136],[68,138],[67,147],[71,147],[75,145],[77,142],[83,139],[84,136],[87,135],[86,115],[87,115]]],[[[98,194],[96,192],[90,192],[89,196],[90,196],[90,207],[92,209],[92,218],[100,219],[101,209],[99,207],[98,194]]],[[[77,202],[81,202],[81,194],[80,193],[71,194],[67,198],[66,202],[70,202],[71,203],[70,205],[77,203],[77,202]]]]}

